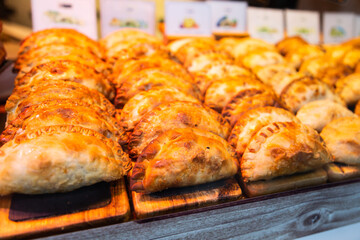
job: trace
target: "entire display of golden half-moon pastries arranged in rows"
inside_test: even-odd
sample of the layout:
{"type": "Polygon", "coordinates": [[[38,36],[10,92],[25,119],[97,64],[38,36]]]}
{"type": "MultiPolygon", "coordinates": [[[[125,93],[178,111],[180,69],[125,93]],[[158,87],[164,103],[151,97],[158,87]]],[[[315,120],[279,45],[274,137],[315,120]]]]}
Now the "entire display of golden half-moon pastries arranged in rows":
{"type": "Polygon", "coordinates": [[[125,175],[148,194],[237,175],[251,197],[359,176],[358,47],[34,33],[6,103],[0,194],[125,175]]]}

